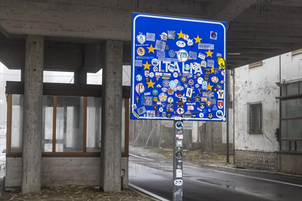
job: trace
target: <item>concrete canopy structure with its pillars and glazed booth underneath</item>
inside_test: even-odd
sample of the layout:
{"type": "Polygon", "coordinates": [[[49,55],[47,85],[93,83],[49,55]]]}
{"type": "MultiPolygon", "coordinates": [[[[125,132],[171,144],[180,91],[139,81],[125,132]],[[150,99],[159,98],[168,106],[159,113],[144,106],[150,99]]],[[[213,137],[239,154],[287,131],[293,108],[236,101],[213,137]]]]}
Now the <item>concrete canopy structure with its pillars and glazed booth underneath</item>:
{"type": "Polygon", "coordinates": [[[120,191],[123,181],[127,187],[122,121],[129,117],[123,115],[129,90],[122,87],[122,68],[130,64],[132,12],[228,22],[228,69],[299,49],[302,43],[299,1],[13,0],[0,6],[0,60],[21,69],[22,81],[7,87],[11,170],[6,187],[21,186],[23,193],[74,183],[120,191]],[[87,73],[100,69],[102,86],[88,85],[87,73]],[[74,84],[43,83],[44,70],[74,72],[74,84]],[[95,114],[92,119],[89,113],[95,114]],[[47,118],[52,130],[45,132],[47,118]],[[93,147],[89,136],[94,136],[93,147]]]}

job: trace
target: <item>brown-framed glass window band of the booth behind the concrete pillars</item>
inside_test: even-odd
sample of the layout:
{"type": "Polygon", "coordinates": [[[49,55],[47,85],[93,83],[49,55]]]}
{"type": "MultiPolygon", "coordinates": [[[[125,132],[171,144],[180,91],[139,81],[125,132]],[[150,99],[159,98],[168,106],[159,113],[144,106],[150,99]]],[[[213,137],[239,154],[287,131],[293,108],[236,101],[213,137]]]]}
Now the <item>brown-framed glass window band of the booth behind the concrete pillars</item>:
{"type": "MultiPolygon", "coordinates": [[[[45,84],[45,83],[44,83],[45,84]]],[[[47,83],[42,103],[42,155],[90,155],[101,152],[102,85],[64,85],[47,83]]],[[[24,87],[21,82],[7,82],[8,123],[7,153],[21,154],[23,143],[24,87]],[[21,94],[20,94],[21,93],[21,94]]],[[[121,152],[128,155],[130,87],[123,86],[121,152]]],[[[55,156],[55,157],[56,157],[55,156]]]]}

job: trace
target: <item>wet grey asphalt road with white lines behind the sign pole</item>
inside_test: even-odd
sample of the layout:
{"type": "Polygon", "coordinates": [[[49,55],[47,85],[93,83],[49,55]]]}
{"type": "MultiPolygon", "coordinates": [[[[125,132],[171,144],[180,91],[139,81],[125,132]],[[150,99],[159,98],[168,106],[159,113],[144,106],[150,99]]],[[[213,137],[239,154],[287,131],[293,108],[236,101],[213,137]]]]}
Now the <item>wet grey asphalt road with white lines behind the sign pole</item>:
{"type": "MultiPolygon", "coordinates": [[[[172,200],[172,162],[133,154],[129,183],[172,200]]],[[[183,200],[302,200],[302,177],[183,165],[183,200]]]]}

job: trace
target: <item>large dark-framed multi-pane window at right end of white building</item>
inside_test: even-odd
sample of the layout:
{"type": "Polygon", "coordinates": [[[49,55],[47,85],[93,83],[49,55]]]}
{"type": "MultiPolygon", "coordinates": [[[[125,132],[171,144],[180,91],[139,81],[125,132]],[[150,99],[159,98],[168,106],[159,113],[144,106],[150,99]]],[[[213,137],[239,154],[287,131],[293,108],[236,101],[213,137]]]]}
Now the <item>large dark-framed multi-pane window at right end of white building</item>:
{"type": "Polygon", "coordinates": [[[288,83],[280,99],[280,150],[302,152],[302,81],[288,83]]]}

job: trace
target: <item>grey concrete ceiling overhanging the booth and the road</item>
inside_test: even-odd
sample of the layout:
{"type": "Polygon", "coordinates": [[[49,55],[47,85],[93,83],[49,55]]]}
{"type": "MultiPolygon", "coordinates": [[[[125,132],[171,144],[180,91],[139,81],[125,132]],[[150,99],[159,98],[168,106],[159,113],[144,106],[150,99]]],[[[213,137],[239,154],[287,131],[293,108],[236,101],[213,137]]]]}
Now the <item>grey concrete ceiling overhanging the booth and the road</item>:
{"type": "Polygon", "coordinates": [[[24,66],[24,55],[11,46],[16,40],[25,44],[25,35],[45,36],[50,46],[67,44],[68,51],[45,52],[48,70],[74,71],[86,55],[91,61],[86,70],[98,71],[100,44],[108,39],[124,41],[124,64],[130,64],[132,12],[226,21],[229,69],[302,48],[301,0],[1,1],[0,6],[0,60],[15,69],[24,66]]]}

